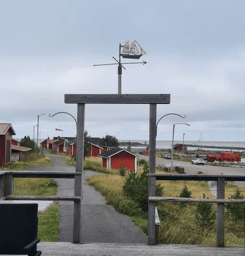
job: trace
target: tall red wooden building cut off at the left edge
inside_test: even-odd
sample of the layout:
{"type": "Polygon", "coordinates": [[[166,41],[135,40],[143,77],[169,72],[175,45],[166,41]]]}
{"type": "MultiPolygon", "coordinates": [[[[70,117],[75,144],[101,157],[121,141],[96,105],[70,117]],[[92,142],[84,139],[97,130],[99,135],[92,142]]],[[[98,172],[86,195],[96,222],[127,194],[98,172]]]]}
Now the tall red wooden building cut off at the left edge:
{"type": "Polygon", "coordinates": [[[0,166],[11,161],[12,135],[15,135],[12,124],[0,124],[0,166]]]}

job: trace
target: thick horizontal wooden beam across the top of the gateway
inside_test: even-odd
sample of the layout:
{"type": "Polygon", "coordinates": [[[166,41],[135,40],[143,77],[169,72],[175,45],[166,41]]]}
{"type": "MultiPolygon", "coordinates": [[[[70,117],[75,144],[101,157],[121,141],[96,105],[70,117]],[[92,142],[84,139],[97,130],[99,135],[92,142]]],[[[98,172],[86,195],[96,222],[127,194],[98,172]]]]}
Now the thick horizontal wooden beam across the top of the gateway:
{"type": "Polygon", "coordinates": [[[170,94],[65,94],[65,103],[170,104],[170,94]]]}

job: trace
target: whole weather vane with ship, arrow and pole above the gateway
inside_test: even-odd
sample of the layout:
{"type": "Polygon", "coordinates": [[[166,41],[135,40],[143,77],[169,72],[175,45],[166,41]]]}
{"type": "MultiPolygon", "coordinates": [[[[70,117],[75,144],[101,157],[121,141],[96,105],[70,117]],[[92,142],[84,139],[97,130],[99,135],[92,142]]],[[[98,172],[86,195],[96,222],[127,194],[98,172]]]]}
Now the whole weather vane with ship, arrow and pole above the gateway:
{"type": "MultiPolygon", "coordinates": [[[[118,66],[118,94],[122,93],[122,64],[140,64],[143,63],[145,65],[147,62],[143,60],[143,62],[123,62],[121,63],[121,56],[125,59],[139,59],[143,54],[146,54],[146,52],[143,50],[143,48],[140,46],[140,44],[134,40],[131,45],[129,43],[129,40],[125,42],[124,45],[119,44],[119,61],[117,61],[114,57],[112,57],[117,63],[110,63],[110,64],[99,64],[94,66],[105,66],[105,65],[119,65],[118,66]],[[137,45],[139,47],[137,47],[137,45]],[[121,51],[121,48],[123,47],[123,50],[121,51]]],[[[124,68],[124,67],[123,67],[124,68]]],[[[125,68],[124,68],[125,69],[125,68]]]]}

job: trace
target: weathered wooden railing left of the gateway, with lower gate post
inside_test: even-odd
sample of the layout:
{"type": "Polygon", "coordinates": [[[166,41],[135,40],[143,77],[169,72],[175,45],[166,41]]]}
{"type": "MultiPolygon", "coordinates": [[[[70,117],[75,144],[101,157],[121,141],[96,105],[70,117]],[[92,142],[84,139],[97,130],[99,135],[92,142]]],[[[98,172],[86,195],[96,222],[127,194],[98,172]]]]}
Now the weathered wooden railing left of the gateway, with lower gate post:
{"type": "MultiPolygon", "coordinates": [[[[80,239],[80,227],[77,220],[81,219],[81,196],[13,196],[14,178],[60,178],[75,179],[81,185],[81,172],[29,172],[29,171],[0,171],[0,200],[46,200],[73,201],[73,243],[80,239]],[[78,209],[78,210],[77,210],[78,209]]],[[[76,186],[75,186],[76,187],[76,186]]],[[[81,190],[81,186],[77,186],[81,190]]],[[[75,191],[75,189],[74,189],[75,191]]]]}

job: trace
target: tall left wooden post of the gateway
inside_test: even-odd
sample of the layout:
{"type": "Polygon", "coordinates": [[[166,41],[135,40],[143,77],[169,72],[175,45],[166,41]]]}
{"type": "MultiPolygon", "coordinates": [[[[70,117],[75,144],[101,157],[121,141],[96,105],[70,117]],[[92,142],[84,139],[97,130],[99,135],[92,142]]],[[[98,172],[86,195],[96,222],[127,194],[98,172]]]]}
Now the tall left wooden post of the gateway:
{"type": "MultiPolygon", "coordinates": [[[[77,167],[76,172],[83,171],[83,151],[84,151],[84,132],[85,132],[85,104],[78,103],[77,118],[77,167]]],[[[74,196],[81,197],[82,175],[75,175],[74,196]]],[[[81,241],[81,201],[74,202],[73,212],[73,243],[81,241]]]]}

